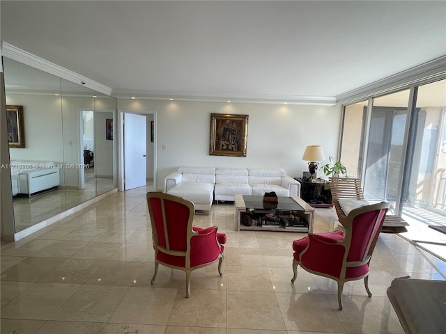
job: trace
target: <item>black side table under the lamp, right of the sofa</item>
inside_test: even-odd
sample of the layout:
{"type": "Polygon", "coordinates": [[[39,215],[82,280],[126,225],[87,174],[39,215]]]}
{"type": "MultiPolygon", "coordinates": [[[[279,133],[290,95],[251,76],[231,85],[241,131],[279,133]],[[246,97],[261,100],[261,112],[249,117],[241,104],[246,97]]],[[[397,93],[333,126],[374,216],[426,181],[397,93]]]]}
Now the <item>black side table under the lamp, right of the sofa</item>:
{"type": "Polygon", "coordinates": [[[332,192],[330,191],[330,182],[316,179],[311,182],[308,178],[294,177],[294,180],[300,182],[300,198],[305,200],[312,207],[332,207],[332,192]]]}

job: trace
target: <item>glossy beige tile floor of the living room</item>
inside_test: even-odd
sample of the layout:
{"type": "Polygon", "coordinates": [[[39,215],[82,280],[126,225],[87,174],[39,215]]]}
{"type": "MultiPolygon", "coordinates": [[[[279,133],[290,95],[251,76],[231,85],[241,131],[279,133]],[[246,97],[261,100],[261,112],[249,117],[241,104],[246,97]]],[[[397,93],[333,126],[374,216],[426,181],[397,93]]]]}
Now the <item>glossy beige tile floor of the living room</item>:
{"type": "MultiPolygon", "coordinates": [[[[446,263],[380,234],[363,281],[346,283],[337,309],[334,281],[293,271],[291,242],[305,234],[234,230],[231,203],[213,205],[195,225],[227,235],[217,263],[185,274],[160,266],[154,285],[146,187],[116,193],[13,244],[1,244],[1,333],[403,333],[386,289],[394,278],[445,280],[446,263]]],[[[333,209],[316,209],[315,232],[339,228],[333,209]]]]}

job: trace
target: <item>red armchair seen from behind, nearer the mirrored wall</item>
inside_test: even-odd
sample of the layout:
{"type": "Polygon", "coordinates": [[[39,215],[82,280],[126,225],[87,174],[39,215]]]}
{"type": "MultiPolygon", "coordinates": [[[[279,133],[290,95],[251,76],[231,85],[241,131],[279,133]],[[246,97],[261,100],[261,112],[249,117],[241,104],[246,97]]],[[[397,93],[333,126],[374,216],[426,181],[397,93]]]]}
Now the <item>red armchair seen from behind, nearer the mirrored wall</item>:
{"type": "Polygon", "coordinates": [[[222,261],[226,235],[217,233],[217,227],[192,227],[194,204],[183,198],[162,192],[147,193],[151,215],[153,248],[155,248],[155,282],[158,266],[186,272],[186,296],[190,294],[190,275],[198,269],[219,260],[218,272],[222,276],[222,261]]]}

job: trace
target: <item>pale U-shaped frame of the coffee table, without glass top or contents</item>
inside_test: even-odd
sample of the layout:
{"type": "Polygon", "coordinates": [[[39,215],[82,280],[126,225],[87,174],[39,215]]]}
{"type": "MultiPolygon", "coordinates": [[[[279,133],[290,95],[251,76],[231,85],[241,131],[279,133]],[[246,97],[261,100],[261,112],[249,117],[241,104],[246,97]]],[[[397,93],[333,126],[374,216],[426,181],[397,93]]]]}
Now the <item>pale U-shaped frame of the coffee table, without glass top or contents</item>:
{"type": "Polygon", "coordinates": [[[236,231],[238,230],[254,230],[254,231],[274,231],[274,232],[313,232],[313,223],[314,223],[314,208],[308,205],[305,200],[302,200],[300,197],[292,197],[292,199],[302,207],[303,211],[302,218],[305,219],[308,223],[307,227],[284,227],[284,225],[281,223],[279,227],[269,227],[269,226],[257,226],[257,225],[251,225],[251,226],[245,226],[241,223],[241,218],[243,214],[246,213],[246,205],[245,200],[243,200],[243,195],[236,194],[234,195],[234,206],[235,206],[235,225],[236,225],[236,231]]]}

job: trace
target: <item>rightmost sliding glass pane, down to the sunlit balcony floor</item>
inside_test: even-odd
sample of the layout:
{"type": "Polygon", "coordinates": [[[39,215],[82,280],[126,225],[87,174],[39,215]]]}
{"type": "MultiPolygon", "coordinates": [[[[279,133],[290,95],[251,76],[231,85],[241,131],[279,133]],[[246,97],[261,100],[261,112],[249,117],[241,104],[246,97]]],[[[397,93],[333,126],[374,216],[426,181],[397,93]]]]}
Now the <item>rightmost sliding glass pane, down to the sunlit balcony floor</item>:
{"type": "Polygon", "coordinates": [[[402,236],[446,259],[446,80],[415,90],[406,159],[402,236]],[[443,230],[443,232],[441,232],[443,230]]]}

